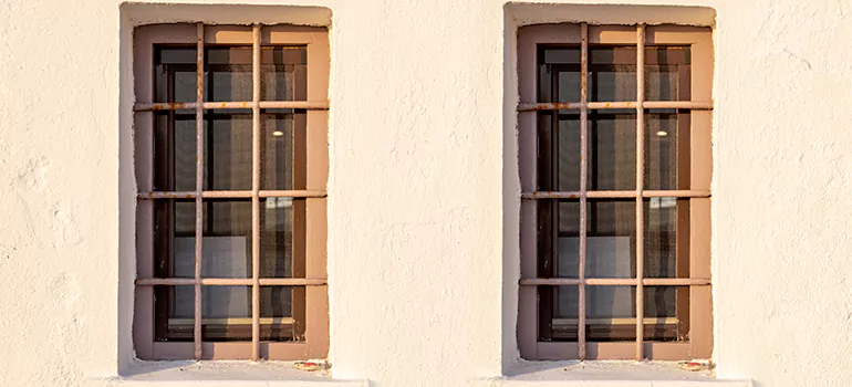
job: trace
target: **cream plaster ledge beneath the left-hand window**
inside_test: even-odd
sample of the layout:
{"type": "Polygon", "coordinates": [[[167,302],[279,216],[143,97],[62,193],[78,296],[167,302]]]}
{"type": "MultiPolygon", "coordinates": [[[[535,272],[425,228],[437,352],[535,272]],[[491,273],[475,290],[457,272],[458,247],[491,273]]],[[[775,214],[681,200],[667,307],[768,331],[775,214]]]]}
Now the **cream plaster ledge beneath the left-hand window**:
{"type": "Polygon", "coordinates": [[[90,387],[368,387],[366,380],[332,379],[302,372],[292,362],[137,362],[126,375],[90,379],[90,387]]]}

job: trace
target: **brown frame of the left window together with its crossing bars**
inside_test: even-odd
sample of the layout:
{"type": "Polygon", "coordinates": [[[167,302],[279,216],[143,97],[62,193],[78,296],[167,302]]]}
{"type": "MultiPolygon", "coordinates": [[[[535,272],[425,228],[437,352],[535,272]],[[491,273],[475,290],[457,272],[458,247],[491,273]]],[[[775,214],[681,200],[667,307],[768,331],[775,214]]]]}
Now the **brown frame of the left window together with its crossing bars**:
{"type": "MultiPolygon", "coordinates": [[[[134,75],[136,104],[135,163],[138,185],[136,216],[136,271],[134,308],[134,346],[142,359],[252,359],[295,360],[322,358],[329,351],[329,296],[326,271],[326,181],[329,175],[329,36],[325,28],[294,25],[205,25],[152,24],[134,31],[134,75]],[[197,52],[197,98],[194,103],[156,103],[154,90],[154,50],[157,44],[190,44],[197,52]],[[205,102],[205,44],[241,45],[252,48],[252,101],[205,102]],[[308,74],[305,94],[297,101],[261,101],[260,53],[263,45],[300,45],[306,49],[308,74]],[[252,189],[204,190],[204,114],[206,109],[251,108],[252,111],[252,189]],[[260,109],[305,109],[304,149],[302,157],[306,172],[302,190],[260,189],[260,109]],[[198,138],[195,191],[154,190],[154,112],[195,109],[198,138]],[[155,278],[154,262],[154,201],[164,199],[195,199],[195,278],[155,278]],[[247,279],[201,278],[202,207],[205,198],[250,198],[252,203],[251,262],[252,276],[247,279]],[[261,198],[304,199],[304,232],[294,236],[301,240],[305,257],[302,268],[294,268],[293,278],[260,278],[260,215],[261,198]],[[155,285],[193,285],[195,313],[193,342],[155,341],[155,285]],[[251,342],[202,342],[201,285],[246,285],[252,291],[251,342]],[[260,341],[260,286],[299,286],[304,302],[303,335],[295,342],[260,341]]],[[[298,150],[297,150],[298,151],[298,150]]],[[[299,178],[299,177],[295,177],[299,178]]],[[[298,297],[294,297],[298,299],[298,297]]],[[[295,310],[295,307],[294,307],[295,310]]],[[[285,318],[284,318],[285,320],[285,318]]],[[[283,321],[283,320],[282,320],[283,321]]],[[[298,327],[294,327],[298,330],[298,327]]]]}

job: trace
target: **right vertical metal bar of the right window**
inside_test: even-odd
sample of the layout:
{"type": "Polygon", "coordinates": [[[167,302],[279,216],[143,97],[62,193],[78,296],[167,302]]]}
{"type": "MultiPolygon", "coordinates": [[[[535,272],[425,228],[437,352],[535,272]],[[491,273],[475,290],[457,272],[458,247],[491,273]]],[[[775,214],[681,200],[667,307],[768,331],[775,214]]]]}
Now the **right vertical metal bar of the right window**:
{"type": "Polygon", "coordinates": [[[645,24],[636,28],[636,360],[642,360],[645,336],[645,24]]]}

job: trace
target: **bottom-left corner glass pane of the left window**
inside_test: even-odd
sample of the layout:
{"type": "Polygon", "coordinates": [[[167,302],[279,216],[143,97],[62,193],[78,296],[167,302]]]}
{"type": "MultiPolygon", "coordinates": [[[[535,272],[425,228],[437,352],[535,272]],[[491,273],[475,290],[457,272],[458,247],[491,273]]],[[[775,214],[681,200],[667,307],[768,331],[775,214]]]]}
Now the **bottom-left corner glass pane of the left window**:
{"type": "Polygon", "coordinates": [[[191,342],[195,325],[195,287],[154,287],[154,339],[158,342],[191,342]]]}

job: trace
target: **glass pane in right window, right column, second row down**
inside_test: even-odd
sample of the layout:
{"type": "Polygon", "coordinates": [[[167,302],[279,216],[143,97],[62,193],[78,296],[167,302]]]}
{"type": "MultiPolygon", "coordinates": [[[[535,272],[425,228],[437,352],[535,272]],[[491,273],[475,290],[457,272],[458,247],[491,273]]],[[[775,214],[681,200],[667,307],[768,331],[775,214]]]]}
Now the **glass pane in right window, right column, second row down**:
{"type": "Polygon", "coordinates": [[[645,189],[689,187],[688,138],[679,138],[680,116],[688,119],[688,113],[678,115],[674,109],[645,113],[645,189]],[[685,165],[680,167],[680,163],[685,165]]]}

